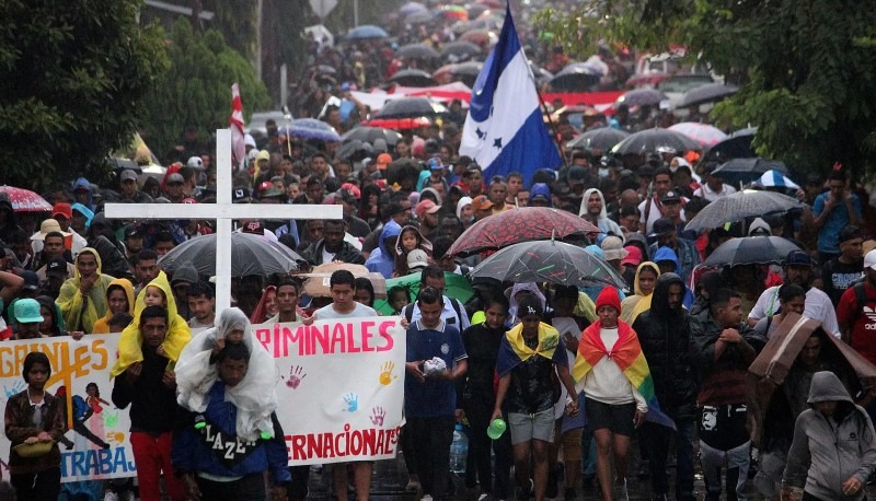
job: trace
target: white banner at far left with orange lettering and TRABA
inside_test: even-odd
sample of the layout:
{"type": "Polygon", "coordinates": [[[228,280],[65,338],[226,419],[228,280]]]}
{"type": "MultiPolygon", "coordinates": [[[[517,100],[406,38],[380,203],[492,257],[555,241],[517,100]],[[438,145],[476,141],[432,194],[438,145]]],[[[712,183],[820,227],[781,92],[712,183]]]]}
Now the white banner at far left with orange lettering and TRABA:
{"type": "MultiPolygon", "coordinates": [[[[128,410],[112,404],[110,368],[116,360],[118,334],[0,342],[0,385],[2,408],[9,398],[23,392],[21,371],[32,351],[48,357],[51,377],[46,391],[67,400],[69,430],[59,445],[61,481],[132,477],[137,474],[130,448],[128,410]]],[[[9,462],[9,440],[0,438],[0,461],[9,462]]],[[[7,477],[8,478],[8,477],[7,477]]]]}

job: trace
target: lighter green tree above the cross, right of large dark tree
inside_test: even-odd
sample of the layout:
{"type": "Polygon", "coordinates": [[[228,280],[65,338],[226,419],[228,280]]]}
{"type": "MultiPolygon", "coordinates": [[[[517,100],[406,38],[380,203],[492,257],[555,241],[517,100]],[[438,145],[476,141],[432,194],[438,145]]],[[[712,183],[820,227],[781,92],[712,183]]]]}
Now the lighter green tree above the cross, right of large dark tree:
{"type": "Polygon", "coordinates": [[[244,115],[269,106],[267,90],[249,62],[218,32],[195,32],[188,20],[174,23],[168,42],[171,69],[150,92],[140,120],[145,139],[159,158],[176,144],[187,125],[201,139],[228,127],[231,84],[240,84],[244,115]]]}

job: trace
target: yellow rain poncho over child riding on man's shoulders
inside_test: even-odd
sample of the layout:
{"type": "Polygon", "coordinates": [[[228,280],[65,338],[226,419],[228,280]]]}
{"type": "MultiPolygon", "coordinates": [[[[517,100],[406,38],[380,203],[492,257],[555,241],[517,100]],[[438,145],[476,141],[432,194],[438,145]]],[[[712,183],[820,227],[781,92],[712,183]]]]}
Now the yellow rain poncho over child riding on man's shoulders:
{"type": "Polygon", "coordinates": [[[113,365],[112,371],[110,371],[112,377],[125,372],[131,363],[139,362],[143,359],[143,336],[140,333],[140,313],[146,307],[146,290],[150,286],[161,289],[164,293],[164,300],[168,302],[168,319],[170,324],[168,325],[168,336],[160,347],[164,351],[164,357],[175,362],[180,359],[180,353],[183,351],[183,348],[185,348],[192,339],[192,330],[188,328],[188,324],[185,322],[185,318],[176,313],[176,300],[173,299],[173,291],[171,290],[171,284],[168,282],[168,276],[164,275],[164,271],[159,271],[158,277],[142,288],[140,293],[137,294],[137,301],[134,304],[134,321],[129,326],[125,327],[118,340],[118,360],[116,360],[115,365],[113,365]]]}

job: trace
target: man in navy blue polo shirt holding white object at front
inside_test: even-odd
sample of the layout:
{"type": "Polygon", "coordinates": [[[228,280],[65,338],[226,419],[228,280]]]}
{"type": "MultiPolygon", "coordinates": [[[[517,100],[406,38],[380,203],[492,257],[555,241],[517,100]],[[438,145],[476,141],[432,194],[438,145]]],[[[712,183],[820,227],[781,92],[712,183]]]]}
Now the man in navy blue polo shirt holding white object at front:
{"type": "Polygon", "coordinates": [[[459,329],[441,318],[439,290],[422,289],[417,306],[420,317],[407,328],[404,410],[423,491],[442,501],[457,409],[454,381],[465,374],[468,356],[459,329]]]}

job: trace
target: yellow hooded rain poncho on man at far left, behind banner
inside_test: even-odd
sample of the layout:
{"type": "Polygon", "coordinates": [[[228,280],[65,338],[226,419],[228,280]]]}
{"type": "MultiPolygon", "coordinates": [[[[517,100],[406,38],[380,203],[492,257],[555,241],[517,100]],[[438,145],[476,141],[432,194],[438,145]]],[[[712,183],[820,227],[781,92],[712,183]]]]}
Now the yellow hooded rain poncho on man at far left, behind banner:
{"type": "Polygon", "coordinates": [[[94,323],[106,315],[108,310],[106,305],[106,288],[115,279],[108,275],[101,273],[101,255],[97,254],[97,250],[92,247],[83,248],[76,257],[77,263],[83,254],[91,254],[97,261],[97,270],[95,271],[97,281],[94,282],[94,287],[89,291],[88,300],[84,300],[87,303],[83,303],[82,294],[79,291],[81,286],[79,267],[76,269],[76,276],[64,282],[55,302],[61,308],[64,323],[68,329],[92,333],[94,323]]]}

